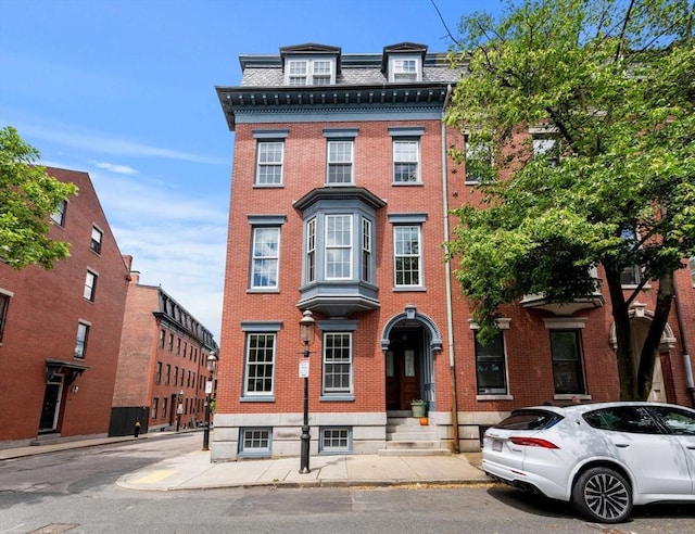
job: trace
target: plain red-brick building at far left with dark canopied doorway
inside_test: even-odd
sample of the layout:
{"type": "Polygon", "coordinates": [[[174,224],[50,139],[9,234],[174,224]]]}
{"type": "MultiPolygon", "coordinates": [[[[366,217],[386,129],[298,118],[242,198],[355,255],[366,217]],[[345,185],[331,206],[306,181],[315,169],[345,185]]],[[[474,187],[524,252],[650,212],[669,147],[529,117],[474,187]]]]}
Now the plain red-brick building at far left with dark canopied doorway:
{"type": "Polygon", "coordinates": [[[50,230],[70,257],[52,270],[0,263],[3,448],[109,431],[128,268],[89,175],[47,171],[79,188],[50,230]]]}

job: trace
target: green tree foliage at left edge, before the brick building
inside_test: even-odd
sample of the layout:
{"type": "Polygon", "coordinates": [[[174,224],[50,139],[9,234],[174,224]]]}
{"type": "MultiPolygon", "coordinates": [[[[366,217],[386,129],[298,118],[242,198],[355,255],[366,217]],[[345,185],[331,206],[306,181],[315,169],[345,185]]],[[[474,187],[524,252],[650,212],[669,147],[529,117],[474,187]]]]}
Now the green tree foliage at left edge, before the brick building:
{"type": "Polygon", "coordinates": [[[70,255],[68,243],[49,238],[49,216],[77,188],[49,176],[38,158],[15,128],[0,130],[0,260],[15,269],[48,270],[70,255]]]}

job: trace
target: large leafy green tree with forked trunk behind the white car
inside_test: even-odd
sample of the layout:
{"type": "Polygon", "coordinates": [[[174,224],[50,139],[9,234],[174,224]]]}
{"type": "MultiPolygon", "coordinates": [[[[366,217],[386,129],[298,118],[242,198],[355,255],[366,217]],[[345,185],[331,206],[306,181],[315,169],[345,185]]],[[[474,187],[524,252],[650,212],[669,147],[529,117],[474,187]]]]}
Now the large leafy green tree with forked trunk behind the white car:
{"type": "Polygon", "coordinates": [[[690,0],[509,2],[497,20],[464,17],[452,52],[466,74],[446,122],[492,154],[468,151],[484,200],[454,211],[446,243],[481,333],[525,294],[567,303],[603,283],[622,399],[648,395],[673,274],[695,255],[693,12],[690,0]],[[553,150],[534,156],[530,128],[553,150]],[[634,265],[627,294],[620,274],[634,265]],[[649,281],[657,304],[633,354],[630,305],[649,281]]]}

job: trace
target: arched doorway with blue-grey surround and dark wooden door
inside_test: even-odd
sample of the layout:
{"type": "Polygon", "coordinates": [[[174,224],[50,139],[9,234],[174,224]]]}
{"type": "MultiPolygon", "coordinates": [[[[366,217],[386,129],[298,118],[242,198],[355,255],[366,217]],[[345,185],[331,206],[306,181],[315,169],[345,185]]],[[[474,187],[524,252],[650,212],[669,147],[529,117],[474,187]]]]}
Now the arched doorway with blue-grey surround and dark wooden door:
{"type": "Polygon", "coordinates": [[[434,355],[442,348],[437,325],[408,305],[384,327],[381,348],[386,357],[387,410],[409,410],[421,398],[435,409],[434,355]]]}

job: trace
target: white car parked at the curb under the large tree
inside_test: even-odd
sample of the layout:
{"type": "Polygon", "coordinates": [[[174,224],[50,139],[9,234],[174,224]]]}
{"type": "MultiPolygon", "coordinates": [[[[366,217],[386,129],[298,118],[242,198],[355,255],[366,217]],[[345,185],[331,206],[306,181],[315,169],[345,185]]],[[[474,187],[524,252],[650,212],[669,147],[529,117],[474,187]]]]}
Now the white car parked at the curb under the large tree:
{"type": "Polygon", "coordinates": [[[485,431],[494,480],[619,523],[633,505],[695,501],[695,410],[658,403],[517,409],[485,431]]]}

